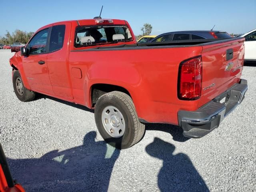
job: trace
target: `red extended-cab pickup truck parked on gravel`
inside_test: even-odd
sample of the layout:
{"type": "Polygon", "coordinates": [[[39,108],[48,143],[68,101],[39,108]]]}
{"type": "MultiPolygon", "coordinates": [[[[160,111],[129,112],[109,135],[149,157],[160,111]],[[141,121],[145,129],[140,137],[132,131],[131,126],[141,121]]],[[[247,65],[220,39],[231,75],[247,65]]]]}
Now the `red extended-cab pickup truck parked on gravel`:
{"type": "Polygon", "coordinates": [[[102,137],[140,141],[145,123],[179,125],[200,138],[244,98],[244,38],[136,44],[126,20],[89,19],[40,28],[11,59],[16,96],[36,92],[94,108],[102,137]]]}

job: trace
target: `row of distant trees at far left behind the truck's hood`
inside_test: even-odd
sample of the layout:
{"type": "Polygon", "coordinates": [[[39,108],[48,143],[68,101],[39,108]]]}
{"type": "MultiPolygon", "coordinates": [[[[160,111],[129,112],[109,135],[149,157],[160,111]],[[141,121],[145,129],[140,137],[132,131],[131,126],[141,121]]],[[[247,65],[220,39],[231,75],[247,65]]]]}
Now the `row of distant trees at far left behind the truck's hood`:
{"type": "Polygon", "coordinates": [[[26,44],[33,34],[34,32],[16,29],[11,35],[10,32],[6,30],[4,37],[0,38],[0,44],[11,45],[14,42],[26,44]]]}

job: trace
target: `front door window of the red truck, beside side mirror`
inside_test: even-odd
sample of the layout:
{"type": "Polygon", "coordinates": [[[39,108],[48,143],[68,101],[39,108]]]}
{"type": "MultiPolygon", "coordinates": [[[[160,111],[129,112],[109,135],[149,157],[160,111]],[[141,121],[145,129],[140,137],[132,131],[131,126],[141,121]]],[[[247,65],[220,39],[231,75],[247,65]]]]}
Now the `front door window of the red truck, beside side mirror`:
{"type": "Polygon", "coordinates": [[[29,54],[46,53],[48,29],[38,32],[28,44],[29,54]]]}

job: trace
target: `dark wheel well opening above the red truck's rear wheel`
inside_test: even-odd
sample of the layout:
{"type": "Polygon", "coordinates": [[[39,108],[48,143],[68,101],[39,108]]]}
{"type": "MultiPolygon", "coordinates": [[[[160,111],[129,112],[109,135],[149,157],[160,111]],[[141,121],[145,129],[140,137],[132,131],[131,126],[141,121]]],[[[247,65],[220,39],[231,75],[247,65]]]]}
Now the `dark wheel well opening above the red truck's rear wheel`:
{"type": "MultiPolygon", "coordinates": [[[[100,98],[100,96],[104,95],[105,93],[109,93],[112,91],[120,91],[123,93],[128,94],[130,97],[130,93],[128,92],[128,90],[126,90],[123,87],[120,86],[116,86],[116,85],[110,85],[110,84],[94,84],[92,86],[92,107],[95,106],[98,98],[100,98]]],[[[132,98],[132,97],[131,97],[132,98]]]]}

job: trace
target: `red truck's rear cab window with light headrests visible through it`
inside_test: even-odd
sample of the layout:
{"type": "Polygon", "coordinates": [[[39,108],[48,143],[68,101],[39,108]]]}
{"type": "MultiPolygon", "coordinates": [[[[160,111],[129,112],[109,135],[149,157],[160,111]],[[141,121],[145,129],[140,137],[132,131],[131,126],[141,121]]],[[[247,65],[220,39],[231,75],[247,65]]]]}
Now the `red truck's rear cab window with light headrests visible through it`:
{"type": "Polygon", "coordinates": [[[76,28],[75,47],[114,44],[132,41],[127,26],[79,26],[76,28]]]}

